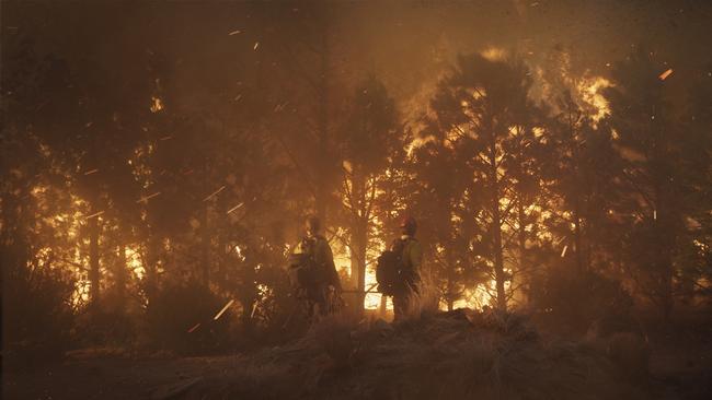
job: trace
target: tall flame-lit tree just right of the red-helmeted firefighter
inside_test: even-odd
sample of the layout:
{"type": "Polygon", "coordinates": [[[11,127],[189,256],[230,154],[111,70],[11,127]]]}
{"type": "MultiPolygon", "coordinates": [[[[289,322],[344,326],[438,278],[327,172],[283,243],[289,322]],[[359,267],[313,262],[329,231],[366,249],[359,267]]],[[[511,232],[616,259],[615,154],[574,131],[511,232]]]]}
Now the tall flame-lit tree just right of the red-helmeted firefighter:
{"type": "MultiPolygon", "coordinates": [[[[536,113],[529,99],[531,79],[524,62],[489,60],[480,55],[460,56],[430,103],[433,118],[426,133],[446,140],[461,153],[462,164],[476,183],[471,196],[481,210],[475,219],[483,255],[493,271],[497,307],[507,307],[507,282],[512,266],[506,264],[507,221],[516,210],[517,185],[524,185],[520,166],[512,163],[521,144],[519,137],[535,126],[526,118],[536,113]],[[519,137],[518,137],[519,136],[519,137]]],[[[522,154],[522,155],[526,155],[522,154]]]]}

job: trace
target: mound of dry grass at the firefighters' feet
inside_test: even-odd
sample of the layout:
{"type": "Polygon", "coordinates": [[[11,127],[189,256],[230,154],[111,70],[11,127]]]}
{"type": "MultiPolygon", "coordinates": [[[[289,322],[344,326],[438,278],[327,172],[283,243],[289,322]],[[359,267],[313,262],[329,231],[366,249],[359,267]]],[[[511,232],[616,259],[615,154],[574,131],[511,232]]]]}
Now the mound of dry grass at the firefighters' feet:
{"type": "MultiPolygon", "coordinates": [[[[426,293],[426,292],[425,292],[426,293]]],[[[510,314],[428,313],[426,295],[402,323],[332,316],[299,341],[236,362],[206,398],[643,399],[605,352],[547,342],[510,314]]]]}

